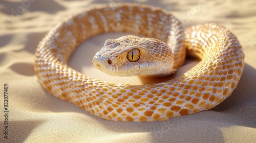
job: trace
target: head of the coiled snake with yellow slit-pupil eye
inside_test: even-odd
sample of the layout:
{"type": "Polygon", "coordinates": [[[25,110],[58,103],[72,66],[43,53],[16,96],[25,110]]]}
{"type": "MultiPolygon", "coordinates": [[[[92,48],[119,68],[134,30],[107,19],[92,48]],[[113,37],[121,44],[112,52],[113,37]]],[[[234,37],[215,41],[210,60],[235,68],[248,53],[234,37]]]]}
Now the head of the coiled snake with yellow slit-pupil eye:
{"type": "Polygon", "coordinates": [[[138,36],[108,39],[93,58],[95,68],[111,76],[163,77],[172,74],[174,55],[163,41],[138,36]]]}

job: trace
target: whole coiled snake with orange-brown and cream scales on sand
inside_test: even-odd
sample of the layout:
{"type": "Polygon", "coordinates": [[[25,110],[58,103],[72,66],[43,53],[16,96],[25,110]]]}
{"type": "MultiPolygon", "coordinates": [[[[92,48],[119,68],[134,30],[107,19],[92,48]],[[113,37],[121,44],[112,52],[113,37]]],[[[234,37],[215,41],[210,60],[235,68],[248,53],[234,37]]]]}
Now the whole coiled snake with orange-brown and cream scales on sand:
{"type": "Polygon", "coordinates": [[[217,23],[184,25],[154,6],[98,5],[52,28],[35,50],[34,71],[41,86],[105,120],[166,121],[214,108],[236,89],[244,69],[237,37],[217,23]],[[166,77],[186,55],[200,62],[184,75],[159,83],[130,85],[88,77],[68,66],[72,52],[92,36],[135,33],[108,39],[93,65],[114,76],[166,77]]]}

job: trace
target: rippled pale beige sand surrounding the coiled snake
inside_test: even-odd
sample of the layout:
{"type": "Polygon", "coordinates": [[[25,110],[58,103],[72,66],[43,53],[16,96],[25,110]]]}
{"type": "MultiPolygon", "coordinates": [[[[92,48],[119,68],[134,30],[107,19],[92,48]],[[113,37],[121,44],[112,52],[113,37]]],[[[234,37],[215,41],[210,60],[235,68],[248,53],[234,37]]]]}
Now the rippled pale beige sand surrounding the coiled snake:
{"type": "MultiPolygon", "coordinates": [[[[0,142],[256,142],[256,1],[153,0],[1,0],[0,1],[0,142]],[[172,11],[184,27],[217,22],[237,35],[245,68],[236,90],[216,108],[165,122],[105,121],[53,97],[37,81],[34,51],[58,22],[99,4],[137,2],[172,11]],[[4,138],[4,84],[8,85],[8,138],[4,138]]],[[[93,37],[72,55],[69,65],[101,80],[146,84],[182,75],[198,63],[188,59],[166,79],[113,78],[92,67],[92,57],[108,38],[93,37]]]]}

